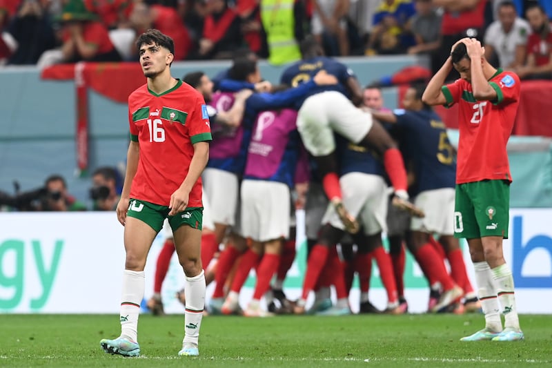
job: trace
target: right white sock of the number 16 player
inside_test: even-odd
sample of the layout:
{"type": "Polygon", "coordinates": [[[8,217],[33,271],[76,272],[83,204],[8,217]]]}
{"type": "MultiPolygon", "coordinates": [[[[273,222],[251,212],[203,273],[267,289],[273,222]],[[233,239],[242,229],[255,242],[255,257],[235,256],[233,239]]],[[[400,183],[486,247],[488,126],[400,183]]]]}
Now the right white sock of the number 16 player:
{"type": "Polygon", "coordinates": [[[186,277],[184,295],[186,296],[186,312],[184,312],[184,340],[182,345],[197,347],[199,328],[205,307],[205,273],[201,270],[193,278],[186,277]]]}

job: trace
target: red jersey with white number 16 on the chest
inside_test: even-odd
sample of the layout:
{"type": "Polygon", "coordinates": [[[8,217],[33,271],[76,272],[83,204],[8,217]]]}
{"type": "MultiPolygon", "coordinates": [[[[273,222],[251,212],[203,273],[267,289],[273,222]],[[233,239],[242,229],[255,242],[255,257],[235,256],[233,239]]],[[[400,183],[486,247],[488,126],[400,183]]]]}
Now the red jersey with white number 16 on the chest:
{"type": "MultiPolygon", "coordinates": [[[[168,206],[188,175],[193,144],[212,139],[203,95],[180,80],[161,95],[144,84],[128,97],[128,122],[130,139],[140,145],[130,197],[168,206]]],[[[199,177],[188,207],[202,206],[199,177]]]]}

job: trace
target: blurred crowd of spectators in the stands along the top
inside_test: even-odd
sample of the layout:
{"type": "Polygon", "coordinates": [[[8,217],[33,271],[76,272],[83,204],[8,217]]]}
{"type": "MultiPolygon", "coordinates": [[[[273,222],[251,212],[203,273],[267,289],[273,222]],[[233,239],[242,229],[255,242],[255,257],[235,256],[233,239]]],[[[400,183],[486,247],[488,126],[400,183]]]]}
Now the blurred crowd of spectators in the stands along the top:
{"type": "MultiPolygon", "coordinates": [[[[248,48],[282,65],[297,61],[299,42],[313,35],[328,56],[424,53],[438,68],[467,35],[524,76],[531,58],[508,59],[531,33],[520,18],[546,40],[551,14],[546,0],[0,0],[0,63],[135,60],[137,35],[157,28],[175,40],[176,60],[231,59],[233,50],[248,48]],[[513,13],[501,14],[503,2],[513,13]],[[543,19],[525,13],[535,4],[543,19]]],[[[549,55],[539,45],[537,65],[549,55]]]]}

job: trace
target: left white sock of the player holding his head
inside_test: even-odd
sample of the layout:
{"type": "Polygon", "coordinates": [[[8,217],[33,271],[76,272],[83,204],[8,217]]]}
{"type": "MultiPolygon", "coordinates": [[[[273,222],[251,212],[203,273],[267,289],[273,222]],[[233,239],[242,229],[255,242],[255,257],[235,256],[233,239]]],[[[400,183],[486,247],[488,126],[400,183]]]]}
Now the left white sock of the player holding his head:
{"type": "Polygon", "coordinates": [[[487,262],[473,262],[473,268],[475,269],[475,283],[478,288],[477,297],[485,314],[485,327],[500,332],[502,331],[502,321],[500,320],[497,293],[493,287],[491,267],[487,262]]]}

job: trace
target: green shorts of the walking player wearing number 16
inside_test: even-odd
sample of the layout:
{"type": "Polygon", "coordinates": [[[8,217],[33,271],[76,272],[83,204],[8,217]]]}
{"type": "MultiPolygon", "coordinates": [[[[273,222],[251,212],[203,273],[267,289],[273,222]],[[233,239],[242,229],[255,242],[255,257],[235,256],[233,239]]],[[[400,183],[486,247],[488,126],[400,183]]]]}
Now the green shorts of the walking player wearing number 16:
{"type": "Polygon", "coordinates": [[[163,222],[167,217],[172,231],[175,231],[184,224],[201,230],[203,207],[188,207],[174,216],[169,216],[169,211],[168,206],[159,206],[159,204],[131,198],[126,215],[146,222],[157,233],[163,229],[163,222]]]}

